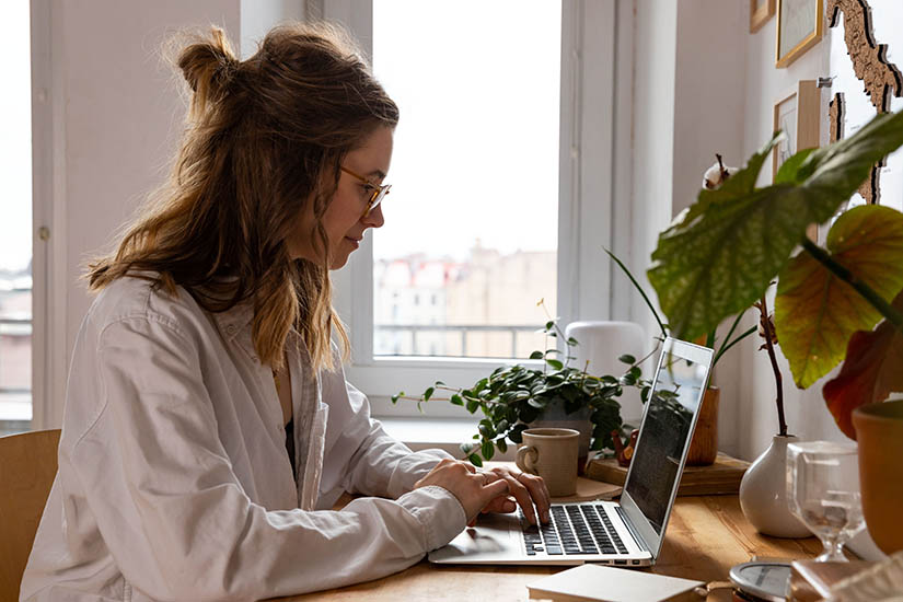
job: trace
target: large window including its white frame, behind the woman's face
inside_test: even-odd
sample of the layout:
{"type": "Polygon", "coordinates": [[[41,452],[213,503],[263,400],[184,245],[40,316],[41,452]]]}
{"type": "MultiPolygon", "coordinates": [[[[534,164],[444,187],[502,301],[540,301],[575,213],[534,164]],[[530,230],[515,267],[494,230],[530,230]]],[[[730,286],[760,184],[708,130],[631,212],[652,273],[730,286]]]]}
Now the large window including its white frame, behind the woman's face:
{"type": "Polygon", "coordinates": [[[322,16],[402,112],[386,224],[333,274],[374,413],[544,345],[540,299],[563,324],[609,319],[615,2],[324,0],[322,16]]]}

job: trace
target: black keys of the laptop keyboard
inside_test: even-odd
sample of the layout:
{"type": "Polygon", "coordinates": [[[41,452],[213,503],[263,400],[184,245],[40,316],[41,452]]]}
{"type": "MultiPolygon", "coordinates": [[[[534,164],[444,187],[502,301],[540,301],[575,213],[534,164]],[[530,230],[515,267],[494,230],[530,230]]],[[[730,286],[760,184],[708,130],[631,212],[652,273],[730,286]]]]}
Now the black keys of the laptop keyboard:
{"type": "Polygon", "coordinates": [[[549,520],[539,526],[530,524],[518,509],[526,544],[526,554],[545,552],[552,556],[580,554],[627,554],[602,505],[556,503],[549,520]]]}

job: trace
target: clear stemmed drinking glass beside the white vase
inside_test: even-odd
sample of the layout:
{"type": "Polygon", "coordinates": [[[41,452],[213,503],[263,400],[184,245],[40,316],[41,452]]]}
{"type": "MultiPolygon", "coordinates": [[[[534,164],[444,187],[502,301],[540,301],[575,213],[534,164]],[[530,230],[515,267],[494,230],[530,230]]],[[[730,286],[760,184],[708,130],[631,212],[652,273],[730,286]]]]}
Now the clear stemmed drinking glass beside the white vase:
{"type": "Polygon", "coordinates": [[[787,445],[790,511],[824,545],[817,562],[846,562],[844,543],[865,526],[856,445],[808,441],[787,445]]]}

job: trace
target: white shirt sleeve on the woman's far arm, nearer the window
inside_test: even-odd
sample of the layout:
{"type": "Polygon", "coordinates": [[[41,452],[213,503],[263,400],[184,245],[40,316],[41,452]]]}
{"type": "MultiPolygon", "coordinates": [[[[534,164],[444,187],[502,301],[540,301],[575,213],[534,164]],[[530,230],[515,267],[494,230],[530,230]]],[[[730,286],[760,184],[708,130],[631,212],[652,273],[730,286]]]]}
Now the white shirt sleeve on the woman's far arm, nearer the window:
{"type": "Polygon", "coordinates": [[[453,459],[439,449],[413,452],[387,435],[380,421],[371,418],[367,396],[348,383],[340,370],[324,373],[322,380],[323,401],[329,406],[322,505],[336,497],[338,488],[397,498],[410,491],[440,460],[453,459]],[[331,485],[338,488],[329,491],[331,485]]]}

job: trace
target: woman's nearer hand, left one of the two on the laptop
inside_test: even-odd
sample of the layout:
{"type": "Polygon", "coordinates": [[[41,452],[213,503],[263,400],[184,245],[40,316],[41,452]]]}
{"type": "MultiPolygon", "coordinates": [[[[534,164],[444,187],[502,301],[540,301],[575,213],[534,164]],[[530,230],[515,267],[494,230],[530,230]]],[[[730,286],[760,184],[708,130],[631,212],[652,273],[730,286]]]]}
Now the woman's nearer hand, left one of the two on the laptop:
{"type": "Polygon", "coordinates": [[[454,495],[464,513],[467,523],[476,519],[481,510],[493,500],[507,499],[510,484],[508,479],[499,478],[493,473],[477,472],[466,462],[458,460],[441,460],[427,475],[414,484],[414,488],[438,485],[454,495]]]}

